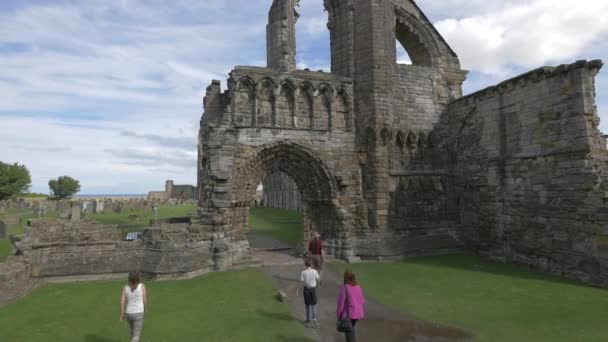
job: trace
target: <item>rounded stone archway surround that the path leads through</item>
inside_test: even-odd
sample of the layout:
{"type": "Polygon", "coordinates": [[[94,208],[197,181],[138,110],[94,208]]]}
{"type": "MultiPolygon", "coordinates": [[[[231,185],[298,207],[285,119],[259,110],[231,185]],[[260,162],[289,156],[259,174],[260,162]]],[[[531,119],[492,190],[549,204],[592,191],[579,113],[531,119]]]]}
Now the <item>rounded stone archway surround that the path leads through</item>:
{"type": "MultiPolygon", "coordinates": [[[[344,225],[336,199],[335,177],[325,163],[300,144],[280,141],[266,144],[247,153],[235,165],[230,186],[229,212],[231,233],[237,240],[246,239],[249,207],[257,186],[273,172],[283,172],[297,184],[303,202],[304,241],[318,231],[328,240],[339,240],[344,225]]],[[[331,254],[337,252],[330,244],[331,254]]]]}

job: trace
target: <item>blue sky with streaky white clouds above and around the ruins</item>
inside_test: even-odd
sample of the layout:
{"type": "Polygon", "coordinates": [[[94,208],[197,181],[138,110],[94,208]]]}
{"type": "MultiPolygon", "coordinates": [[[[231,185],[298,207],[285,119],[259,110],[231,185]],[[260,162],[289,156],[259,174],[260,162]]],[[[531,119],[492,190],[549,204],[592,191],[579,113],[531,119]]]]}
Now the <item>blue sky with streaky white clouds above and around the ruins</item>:
{"type": "MultiPolygon", "coordinates": [[[[82,193],[196,184],[205,87],[264,65],[271,0],[0,1],[0,160],[82,193]]],[[[322,0],[302,0],[298,64],[329,70],[322,0]]],[[[419,0],[471,71],[465,92],[542,65],[608,58],[608,1],[419,0]]],[[[608,69],[597,79],[608,132],[608,69]]]]}

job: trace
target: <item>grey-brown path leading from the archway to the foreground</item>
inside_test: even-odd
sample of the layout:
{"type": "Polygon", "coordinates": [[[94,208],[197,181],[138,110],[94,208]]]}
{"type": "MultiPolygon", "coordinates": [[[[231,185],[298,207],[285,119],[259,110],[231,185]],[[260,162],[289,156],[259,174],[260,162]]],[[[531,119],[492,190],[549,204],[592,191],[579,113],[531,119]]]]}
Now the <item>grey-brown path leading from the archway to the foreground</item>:
{"type": "MultiPolygon", "coordinates": [[[[304,302],[302,296],[296,297],[300,272],[303,268],[300,258],[291,256],[286,251],[255,251],[257,258],[264,264],[262,270],[273,280],[275,285],[288,296],[293,314],[304,325],[304,302]]],[[[309,337],[316,341],[344,341],[344,335],[336,332],[336,298],[342,283],[341,276],[330,270],[323,270],[322,286],[317,291],[317,306],[320,328],[307,328],[309,337]]],[[[365,289],[364,289],[365,291],[365,289]]],[[[464,331],[439,327],[435,324],[408,317],[402,313],[381,305],[369,297],[365,304],[366,317],[357,323],[357,340],[359,342],[404,342],[404,341],[469,341],[470,335],[464,331]]]]}

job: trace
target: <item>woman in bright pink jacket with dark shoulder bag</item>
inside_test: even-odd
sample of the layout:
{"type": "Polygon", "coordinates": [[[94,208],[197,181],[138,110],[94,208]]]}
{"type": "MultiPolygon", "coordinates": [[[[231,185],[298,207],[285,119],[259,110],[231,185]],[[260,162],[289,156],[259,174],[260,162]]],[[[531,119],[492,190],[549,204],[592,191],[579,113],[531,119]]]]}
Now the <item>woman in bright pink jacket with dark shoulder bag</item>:
{"type": "Polygon", "coordinates": [[[363,319],[365,315],[363,310],[364,304],[365,299],[363,298],[363,290],[357,285],[355,274],[352,271],[344,272],[344,286],[340,288],[336,314],[338,320],[350,318],[353,325],[351,331],[344,332],[346,342],[356,342],[355,324],[357,324],[357,321],[360,319],[363,319]],[[348,306],[346,306],[347,302],[348,306]]]}

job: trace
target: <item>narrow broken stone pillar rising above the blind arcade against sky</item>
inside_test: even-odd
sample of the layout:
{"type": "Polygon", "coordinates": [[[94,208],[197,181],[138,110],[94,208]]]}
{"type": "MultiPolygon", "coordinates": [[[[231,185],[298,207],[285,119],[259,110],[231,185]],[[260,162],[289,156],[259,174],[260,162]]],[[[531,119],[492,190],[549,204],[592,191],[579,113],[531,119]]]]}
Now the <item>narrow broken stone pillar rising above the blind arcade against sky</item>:
{"type": "Polygon", "coordinates": [[[296,0],[274,0],[268,12],[266,53],[268,67],[284,72],[296,69],[296,0]]]}

